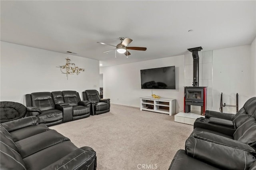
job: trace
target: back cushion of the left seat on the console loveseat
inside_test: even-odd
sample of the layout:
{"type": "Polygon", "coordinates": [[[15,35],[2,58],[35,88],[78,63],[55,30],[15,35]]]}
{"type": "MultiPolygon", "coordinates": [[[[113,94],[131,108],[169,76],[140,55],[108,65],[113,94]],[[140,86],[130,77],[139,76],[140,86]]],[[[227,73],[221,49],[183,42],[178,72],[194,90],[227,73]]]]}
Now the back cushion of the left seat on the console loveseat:
{"type": "Polygon", "coordinates": [[[37,107],[41,111],[46,111],[55,108],[51,92],[31,93],[32,107],[37,107]]]}

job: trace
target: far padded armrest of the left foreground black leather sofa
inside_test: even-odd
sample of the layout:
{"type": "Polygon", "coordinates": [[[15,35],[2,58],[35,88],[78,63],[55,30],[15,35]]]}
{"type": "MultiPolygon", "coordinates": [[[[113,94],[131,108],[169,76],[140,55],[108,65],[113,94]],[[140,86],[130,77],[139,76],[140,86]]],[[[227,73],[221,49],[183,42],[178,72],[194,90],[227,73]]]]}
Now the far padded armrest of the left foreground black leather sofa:
{"type": "Polygon", "coordinates": [[[12,132],[14,130],[18,130],[20,128],[25,128],[29,126],[38,125],[38,117],[29,116],[22,119],[17,119],[15,121],[1,123],[1,125],[8,130],[8,132],[12,132]]]}

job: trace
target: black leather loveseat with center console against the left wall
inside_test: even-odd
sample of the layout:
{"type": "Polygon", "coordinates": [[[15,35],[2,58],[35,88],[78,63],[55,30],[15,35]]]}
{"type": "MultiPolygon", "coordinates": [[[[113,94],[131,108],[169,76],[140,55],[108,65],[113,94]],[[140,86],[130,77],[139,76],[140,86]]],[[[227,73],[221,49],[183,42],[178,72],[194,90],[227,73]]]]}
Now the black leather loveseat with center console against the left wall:
{"type": "Polygon", "coordinates": [[[76,91],[36,92],[25,97],[27,116],[37,116],[47,126],[90,116],[90,101],[81,101],[76,91]]]}

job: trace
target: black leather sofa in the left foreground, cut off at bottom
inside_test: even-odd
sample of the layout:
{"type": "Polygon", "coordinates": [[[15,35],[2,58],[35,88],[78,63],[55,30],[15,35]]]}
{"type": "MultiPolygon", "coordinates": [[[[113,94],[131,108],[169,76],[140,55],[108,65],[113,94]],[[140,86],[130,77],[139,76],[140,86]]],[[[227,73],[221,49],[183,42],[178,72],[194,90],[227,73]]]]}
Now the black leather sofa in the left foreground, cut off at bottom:
{"type": "Polygon", "coordinates": [[[62,134],[30,116],[0,125],[3,170],[96,170],[96,152],[77,148],[62,134]]]}

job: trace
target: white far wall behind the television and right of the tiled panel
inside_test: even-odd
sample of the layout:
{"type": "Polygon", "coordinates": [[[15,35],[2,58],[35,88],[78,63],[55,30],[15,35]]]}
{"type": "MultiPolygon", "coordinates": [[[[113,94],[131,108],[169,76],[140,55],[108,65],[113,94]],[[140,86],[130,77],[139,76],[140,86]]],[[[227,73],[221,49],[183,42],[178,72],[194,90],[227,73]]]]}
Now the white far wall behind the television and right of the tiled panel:
{"type": "MultiPolygon", "coordinates": [[[[223,103],[229,105],[236,104],[238,93],[241,108],[252,97],[251,45],[213,50],[212,55],[212,110],[219,111],[221,93],[223,103]]],[[[176,90],[154,89],[153,93],[177,99],[176,113],[183,111],[184,55],[100,68],[104,74],[104,98],[110,98],[111,103],[139,107],[139,97],[151,95],[150,89],[140,87],[140,69],[171,65],[176,66],[176,90]]],[[[223,111],[236,113],[236,108],[224,107],[223,111]]]]}

